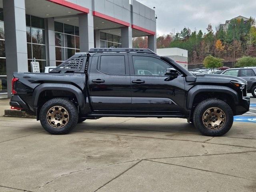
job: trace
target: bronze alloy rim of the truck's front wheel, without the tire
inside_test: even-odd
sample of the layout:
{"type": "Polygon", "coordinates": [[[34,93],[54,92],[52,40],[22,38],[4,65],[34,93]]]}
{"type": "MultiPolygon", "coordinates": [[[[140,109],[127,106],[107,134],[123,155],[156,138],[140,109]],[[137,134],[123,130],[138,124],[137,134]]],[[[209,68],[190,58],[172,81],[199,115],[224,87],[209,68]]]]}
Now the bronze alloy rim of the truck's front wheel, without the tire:
{"type": "Polygon", "coordinates": [[[204,112],[202,121],[209,130],[219,130],[226,122],[226,114],[218,107],[211,107],[204,112]]]}

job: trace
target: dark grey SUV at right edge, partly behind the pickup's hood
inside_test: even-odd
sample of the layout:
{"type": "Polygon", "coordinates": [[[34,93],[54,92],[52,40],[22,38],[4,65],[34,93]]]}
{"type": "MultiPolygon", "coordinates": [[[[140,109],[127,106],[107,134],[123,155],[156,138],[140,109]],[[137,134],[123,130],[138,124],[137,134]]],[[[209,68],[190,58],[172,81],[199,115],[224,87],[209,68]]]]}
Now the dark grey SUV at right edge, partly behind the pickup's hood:
{"type": "Polygon", "coordinates": [[[223,75],[240,77],[247,81],[247,92],[256,97],[256,67],[241,67],[227,69],[222,72],[223,75]]]}

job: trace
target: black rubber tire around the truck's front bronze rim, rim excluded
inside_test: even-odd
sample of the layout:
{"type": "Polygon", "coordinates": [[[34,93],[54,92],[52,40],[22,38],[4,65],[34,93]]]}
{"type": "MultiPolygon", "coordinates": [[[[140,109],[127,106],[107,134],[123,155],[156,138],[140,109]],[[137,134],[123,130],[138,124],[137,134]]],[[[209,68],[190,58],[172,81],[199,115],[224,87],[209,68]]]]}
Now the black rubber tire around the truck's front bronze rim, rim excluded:
{"type": "Polygon", "coordinates": [[[196,106],[193,113],[193,121],[194,121],[195,127],[198,128],[199,131],[206,136],[222,136],[226,134],[232,127],[233,120],[234,120],[234,116],[233,116],[232,109],[226,102],[219,99],[207,99],[200,102],[196,106]],[[218,130],[212,130],[212,129],[206,128],[202,120],[204,116],[204,112],[209,108],[214,108],[214,107],[221,109],[226,116],[226,122],[218,130]]]}

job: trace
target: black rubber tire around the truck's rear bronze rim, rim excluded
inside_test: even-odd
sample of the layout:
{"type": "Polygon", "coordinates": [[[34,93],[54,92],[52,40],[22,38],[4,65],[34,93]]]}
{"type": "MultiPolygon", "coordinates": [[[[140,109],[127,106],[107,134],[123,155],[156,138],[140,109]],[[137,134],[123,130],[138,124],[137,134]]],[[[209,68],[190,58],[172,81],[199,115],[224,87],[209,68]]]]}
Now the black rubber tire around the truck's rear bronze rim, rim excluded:
{"type": "Polygon", "coordinates": [[[70,132],[78,122],[78,111],[77,107],[68,99],[54,98],[47,101],[40,110],[39,119],[42,127],[50,134],[67,134],[70,132]],[[47,113],[54,106],[61,106],[68,112],[68,122],[62,128],[52,127],[47,120],[47,113]]]}

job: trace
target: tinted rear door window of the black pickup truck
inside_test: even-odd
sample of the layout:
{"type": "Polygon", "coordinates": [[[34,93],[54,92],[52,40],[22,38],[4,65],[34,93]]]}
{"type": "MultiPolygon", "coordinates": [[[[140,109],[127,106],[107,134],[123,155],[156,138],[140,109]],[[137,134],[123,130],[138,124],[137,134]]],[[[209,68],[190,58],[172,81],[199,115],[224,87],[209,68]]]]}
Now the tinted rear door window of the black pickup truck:
{"type": "Polygon", "coordinates": [[[101,56],[100,71],[108,74],[124,75],[125,74],[124,56],[119,56],[119,55],[101,56]]]}

